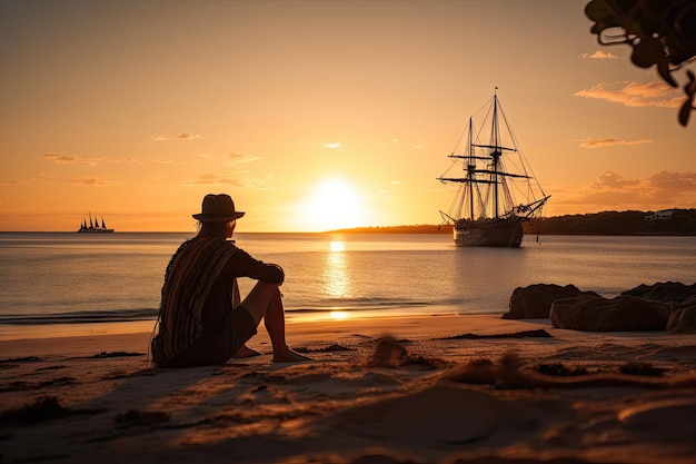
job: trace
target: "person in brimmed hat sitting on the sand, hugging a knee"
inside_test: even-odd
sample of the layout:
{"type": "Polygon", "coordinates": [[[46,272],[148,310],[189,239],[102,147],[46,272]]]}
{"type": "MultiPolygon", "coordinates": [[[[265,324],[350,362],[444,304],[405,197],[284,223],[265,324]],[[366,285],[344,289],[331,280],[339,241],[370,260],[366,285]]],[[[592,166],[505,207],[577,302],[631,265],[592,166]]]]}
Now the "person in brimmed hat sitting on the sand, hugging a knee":
{"type": "Polygon", "coordinates": [[[199,233],[171,257],[165,274],[159,333],[152,339],[152,361],[159,367],[221,364],[235,357],[259,355],[246,343],[261,318],[270,335],[274,362],[307,361],[288,348],[280,289],[280,266],[253,259],[232,237],[242,211],[229,195],[207,195],[199,233]],[[239,303],[237,277],[258,280],[239,303]]]}

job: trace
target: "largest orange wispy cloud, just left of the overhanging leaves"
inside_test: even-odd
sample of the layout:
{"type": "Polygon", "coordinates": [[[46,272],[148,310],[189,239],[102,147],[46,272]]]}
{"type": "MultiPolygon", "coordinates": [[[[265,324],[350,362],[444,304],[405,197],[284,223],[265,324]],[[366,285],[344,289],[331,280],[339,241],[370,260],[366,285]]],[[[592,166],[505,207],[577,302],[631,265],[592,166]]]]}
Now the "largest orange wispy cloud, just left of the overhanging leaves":
{"type": "Polygon", "coordinates": [[[684,97],[678,90],[665,82],[600,82],[574,96],[612,101],[627,107],[677,108],[684,102],[684,97]]]}

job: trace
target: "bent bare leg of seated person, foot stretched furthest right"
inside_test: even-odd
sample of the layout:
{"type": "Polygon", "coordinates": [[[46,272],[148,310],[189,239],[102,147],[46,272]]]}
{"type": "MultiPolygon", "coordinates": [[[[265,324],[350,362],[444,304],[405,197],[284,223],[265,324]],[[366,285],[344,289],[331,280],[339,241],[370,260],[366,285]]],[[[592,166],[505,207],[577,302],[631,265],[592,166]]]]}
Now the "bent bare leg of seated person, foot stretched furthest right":
{"type": "Polygon", "coordinates": [[[285,338],[285,310],[280,289],[275,284],[257,283],[249,295],[241,302],[241,306],[251,314],[258,323],[264,319],[266,330],[274,347],[275,363],[290,363],[309,361],[310,358],[288,348],[285,338]]]}

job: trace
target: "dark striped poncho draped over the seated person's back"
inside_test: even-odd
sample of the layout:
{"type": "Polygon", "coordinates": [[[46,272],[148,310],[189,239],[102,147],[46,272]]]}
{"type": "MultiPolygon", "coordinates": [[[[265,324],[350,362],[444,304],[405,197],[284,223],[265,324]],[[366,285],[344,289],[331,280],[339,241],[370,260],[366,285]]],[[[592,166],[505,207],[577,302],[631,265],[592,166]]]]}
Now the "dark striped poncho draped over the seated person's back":
{"type": "Polygon", "coordinates": [[[201,337],[202,312],[212,284],[238,250],[233,241],[196,237],[171,257],[165,274],[159,333],[152,339],[152,361],[166,365],[201,337]]]}

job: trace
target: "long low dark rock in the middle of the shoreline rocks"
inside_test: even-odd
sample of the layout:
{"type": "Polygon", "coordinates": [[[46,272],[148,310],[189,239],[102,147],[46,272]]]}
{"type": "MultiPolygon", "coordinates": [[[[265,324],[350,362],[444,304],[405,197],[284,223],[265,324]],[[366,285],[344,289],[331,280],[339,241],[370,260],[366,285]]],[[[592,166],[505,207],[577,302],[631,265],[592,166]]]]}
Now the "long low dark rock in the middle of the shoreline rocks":
{"type": "Polygon", "coordinates": [[[557,299],[549,318],[558,328],[594,332],[665,330],[669,305],[635,296],[581,296],[557,299]]]}

